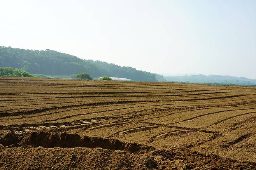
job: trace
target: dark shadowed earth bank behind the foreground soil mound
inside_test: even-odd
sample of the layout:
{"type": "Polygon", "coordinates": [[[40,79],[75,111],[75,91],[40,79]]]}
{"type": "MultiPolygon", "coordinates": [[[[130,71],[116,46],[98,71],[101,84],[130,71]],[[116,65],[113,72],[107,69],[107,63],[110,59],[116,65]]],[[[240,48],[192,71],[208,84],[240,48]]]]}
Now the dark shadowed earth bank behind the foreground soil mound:
{"type": "Polygon", "coordinates": [[[54,133],[54,132],[30,132],[25,135],[19,145],[32,145],[34,147],[42,146],[52,147],[101,147],[109,150],[128,151],[130,153],[148,153],[154,150],[154,147],[144,146],[137,143],[124,143],[117,139],[105,139],[102,137],[81,137],[78,134],[54,133]]]}

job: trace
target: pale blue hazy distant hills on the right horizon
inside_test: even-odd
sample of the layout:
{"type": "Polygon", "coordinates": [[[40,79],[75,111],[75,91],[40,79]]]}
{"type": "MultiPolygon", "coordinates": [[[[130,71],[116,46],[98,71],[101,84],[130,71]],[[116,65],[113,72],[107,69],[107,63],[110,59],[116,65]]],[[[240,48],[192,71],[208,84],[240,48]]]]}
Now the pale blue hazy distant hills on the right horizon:
{"type": "Polygon", "coordinates": [[[220,75],[191,75],[191,76],[164,76],[168,82],[187,83],[218,83],[234,85],[256,85],[256,80],[245,77],[220,76],[220,75]]]}

